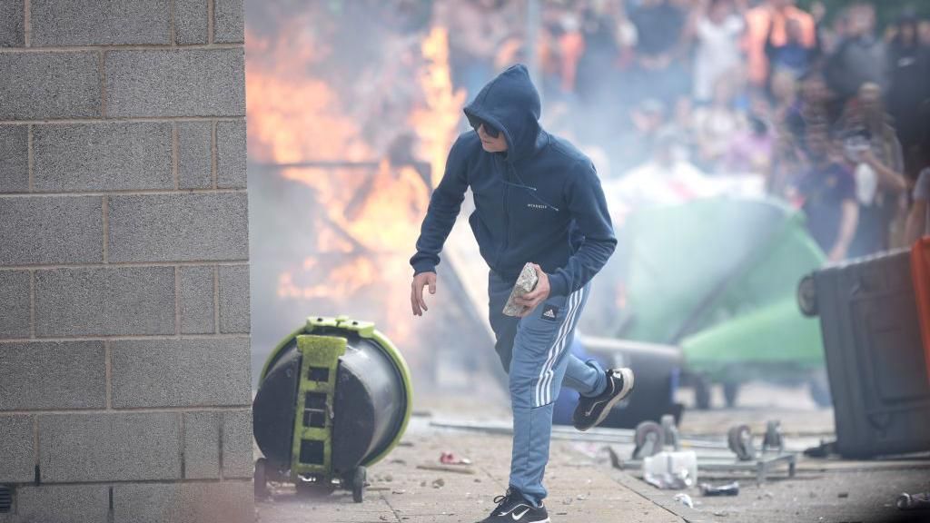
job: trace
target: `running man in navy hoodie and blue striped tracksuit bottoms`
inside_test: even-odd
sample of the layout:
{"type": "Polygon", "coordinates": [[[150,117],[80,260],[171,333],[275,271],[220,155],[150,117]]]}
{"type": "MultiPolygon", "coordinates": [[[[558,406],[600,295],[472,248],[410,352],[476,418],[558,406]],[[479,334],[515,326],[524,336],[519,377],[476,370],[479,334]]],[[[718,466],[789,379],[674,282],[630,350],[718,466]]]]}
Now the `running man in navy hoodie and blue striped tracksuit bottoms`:
{"type": "Polygon", "coordinates": [[[488,295],[495,349],[510,379],[513,449],[510,486],[495,498],[485,522],[550,521],[542,476],[549,461],[552,405],[561,385],[581,398],[574,424],[587,430],[630,394],[630,369],[604,370],[571,355],[578,316],[591,278],[617,245],[604,192],[591,160],[539,126],[536,87],[523,65],[487,84],[465,108],[474,128],[452,145],[443,180],[432,194],[417,240],[410,302],[427,310],[423,288],[436,291],[435,267],[465,191],[481,255],[490,267],[488,295]],[[532,262],[538,283],[517,304],[520,317],[503,315],[523,266],[532,262]]]}

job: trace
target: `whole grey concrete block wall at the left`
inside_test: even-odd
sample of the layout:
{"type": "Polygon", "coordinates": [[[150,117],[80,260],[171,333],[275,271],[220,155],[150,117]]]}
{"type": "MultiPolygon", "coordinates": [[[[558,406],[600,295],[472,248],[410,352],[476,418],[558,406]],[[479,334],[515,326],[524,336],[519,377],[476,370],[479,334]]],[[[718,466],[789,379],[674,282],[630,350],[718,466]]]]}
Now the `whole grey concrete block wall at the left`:
{"type": "Polygon", "coordinates": [[[0,523],[254,519],[244,37],[0,1],[0,523]]]}

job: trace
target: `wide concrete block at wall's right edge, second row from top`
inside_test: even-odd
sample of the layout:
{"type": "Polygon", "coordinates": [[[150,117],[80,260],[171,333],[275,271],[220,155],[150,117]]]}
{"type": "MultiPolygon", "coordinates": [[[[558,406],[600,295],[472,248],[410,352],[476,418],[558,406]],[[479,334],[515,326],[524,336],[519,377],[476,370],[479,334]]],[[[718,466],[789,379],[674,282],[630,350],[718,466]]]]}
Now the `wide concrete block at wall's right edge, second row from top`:
{"type": "Polygon", "coordinates": [[[245,116],[245,51],[110,51],[109,116],[245,116]]]}

